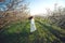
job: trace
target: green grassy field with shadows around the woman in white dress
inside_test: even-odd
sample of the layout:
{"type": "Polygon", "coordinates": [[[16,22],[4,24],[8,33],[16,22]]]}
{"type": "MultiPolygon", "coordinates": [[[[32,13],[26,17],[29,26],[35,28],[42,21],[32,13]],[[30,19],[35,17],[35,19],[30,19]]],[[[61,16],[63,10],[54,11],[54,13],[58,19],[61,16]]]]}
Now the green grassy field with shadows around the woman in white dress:
{"type": "Polygon", "coordinates": [[[35,19],[37,30],[30,34],[29,20],[10,24],[0,30],[0,43],[65,43],[65,29],[35,19]]]}

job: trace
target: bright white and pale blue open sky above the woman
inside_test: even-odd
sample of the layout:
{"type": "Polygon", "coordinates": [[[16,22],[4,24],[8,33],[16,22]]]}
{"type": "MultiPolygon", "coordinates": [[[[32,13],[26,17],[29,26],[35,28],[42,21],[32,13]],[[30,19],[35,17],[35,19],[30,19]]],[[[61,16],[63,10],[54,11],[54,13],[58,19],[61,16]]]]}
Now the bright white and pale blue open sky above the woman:
{"type": "Polygon", "coordinates": [[[29,0],[30,4],[30,14],[40,14],[46,13],[46,9],[53,10],[54,4],[57,3],[60,5],[65,6],[65,0],[29,0]]]}

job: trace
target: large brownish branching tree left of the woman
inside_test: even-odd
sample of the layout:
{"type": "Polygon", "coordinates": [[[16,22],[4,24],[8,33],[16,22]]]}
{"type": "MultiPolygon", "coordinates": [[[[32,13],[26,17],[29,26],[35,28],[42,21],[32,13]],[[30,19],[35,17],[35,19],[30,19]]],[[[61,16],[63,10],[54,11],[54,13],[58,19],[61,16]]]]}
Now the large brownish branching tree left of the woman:
{"type": "Polygon", "coordinates": [[[5,6],[4,11],[0,12],[0,28],[12,23],[12,20],[23,20],[28,15],[28,2],[26,0],[10,0],[5,6]]]}

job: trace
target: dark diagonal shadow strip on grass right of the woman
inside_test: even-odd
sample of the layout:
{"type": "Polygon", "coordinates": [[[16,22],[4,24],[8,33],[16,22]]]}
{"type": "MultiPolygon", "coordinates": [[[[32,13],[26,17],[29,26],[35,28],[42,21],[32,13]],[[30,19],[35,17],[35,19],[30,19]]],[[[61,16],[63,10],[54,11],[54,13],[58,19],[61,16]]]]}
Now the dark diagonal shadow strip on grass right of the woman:
{"type": "Polygon", "coordinates": [[[43,23],[40,23],[37,20],[37,23],[39,23],[43,28],[48,29],[52,34],[54,34],[57,39],[60,39],[62,42],[65,42],[65,37],[61,37],[60,32],[54,30],[52,26],[47,26],[43,23]]]}

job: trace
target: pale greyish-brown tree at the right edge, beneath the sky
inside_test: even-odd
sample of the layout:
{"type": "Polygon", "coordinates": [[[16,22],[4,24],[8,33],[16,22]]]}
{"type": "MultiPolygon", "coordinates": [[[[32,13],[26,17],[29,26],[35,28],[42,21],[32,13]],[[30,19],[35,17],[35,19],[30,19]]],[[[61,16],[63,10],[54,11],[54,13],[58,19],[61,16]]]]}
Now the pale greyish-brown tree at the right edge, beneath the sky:
{"type": "Polygon", "coordinates": [[[65,8],[56,6],[54,11],[51,13],[52,15],[49,16],[50,20],[52,20],[52,25],[57,25],[61,28],[65,28],[65,8]]]}

